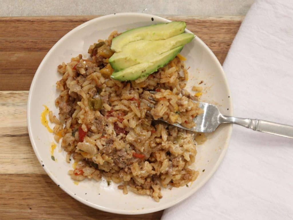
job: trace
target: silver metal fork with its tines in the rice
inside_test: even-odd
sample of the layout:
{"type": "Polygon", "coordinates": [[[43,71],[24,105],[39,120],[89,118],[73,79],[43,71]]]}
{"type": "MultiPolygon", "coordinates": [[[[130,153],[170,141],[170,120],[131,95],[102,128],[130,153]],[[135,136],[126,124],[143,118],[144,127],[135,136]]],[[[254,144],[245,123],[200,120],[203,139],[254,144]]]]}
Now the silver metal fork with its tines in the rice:
{"type": "MultiPolygon", "coordinates": [[[[156,94],[155,91],[150,91],[151,94],[156,94]]],[[[150,100],[156,101],[153,97],[149,97],[150,100]]],[[[255,131],[260,131],[264,133],[274,134],[282,137],[293,138],[293,126],[275,123],[271,121],[265,121],[260,119],[245,119],[226,116],[220,113],[217,106],[205,102],[193,101],[199,103],[199,107],[204,110],[200,115],[193,118],[196,126],[192,128],[186,128],[179,123],[173,123],[173,126],[182,128],[188,131],[209,133],[216,130],[216,128],[223,123],[233,123],[244,126],[246,128],[251,128],[255,131]]],[[[148,104],[149,107],[154,106],[148,104]]],[[[163,119],[159,119],[163,122],[168,123],[163,119]]]]}

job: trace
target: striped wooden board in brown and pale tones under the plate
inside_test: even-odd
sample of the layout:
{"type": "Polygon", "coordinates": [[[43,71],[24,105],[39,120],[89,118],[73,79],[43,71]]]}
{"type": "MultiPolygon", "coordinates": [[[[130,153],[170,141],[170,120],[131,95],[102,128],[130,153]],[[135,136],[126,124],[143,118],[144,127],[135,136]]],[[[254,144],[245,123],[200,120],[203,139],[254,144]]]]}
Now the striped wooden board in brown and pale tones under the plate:
{"type": "MultiPolygon", "coordinates": [[[[47,176],[28,137],[26,107],[35,71],[68,31],[98,16],[0,18],[0,219],[160,219],[163,211],[117,215],[87,207],[47,176]]],[[[185,21],[221,64],[242,17],[163,16],[185,21]]]]}

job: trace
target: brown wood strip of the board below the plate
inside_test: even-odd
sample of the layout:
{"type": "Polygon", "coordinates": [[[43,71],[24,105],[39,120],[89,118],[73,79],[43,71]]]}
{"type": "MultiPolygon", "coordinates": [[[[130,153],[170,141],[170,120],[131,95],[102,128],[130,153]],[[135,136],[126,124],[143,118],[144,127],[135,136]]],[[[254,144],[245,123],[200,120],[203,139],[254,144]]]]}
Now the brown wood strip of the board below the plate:
{"type": "Polygon", "coordinates": [[[0,175],[0,219],[160,219],[163,211],[144,215],[110,214],[71,198],[47,175],[0,175]]]}

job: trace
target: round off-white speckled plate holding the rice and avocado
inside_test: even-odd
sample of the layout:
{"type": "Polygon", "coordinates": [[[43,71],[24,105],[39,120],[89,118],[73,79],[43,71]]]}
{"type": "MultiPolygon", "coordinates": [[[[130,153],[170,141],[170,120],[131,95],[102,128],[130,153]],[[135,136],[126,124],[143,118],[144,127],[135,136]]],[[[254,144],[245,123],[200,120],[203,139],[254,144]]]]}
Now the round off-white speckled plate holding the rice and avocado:
{"type": "MultiPolygon", "coordinates": [[[[58,113],[54,100],[58,97],[55,83],[61,79],[57,66],[62,62],[70,62],[71,57],[82,54],[88,57],[88,47],[98,39],[106,39],[113,31],[123,32],[131,28],[155,23],[166,23],[169,20],[141,13],[119,13],[95,18],[74,28],[61,38],[47,53],[35,74],[28,96],[28,132],[35,154],[51,179],[78,201],[103,211],[118,214],[144,214],[166,209],[186,199],[209,180],[219,163],[222,161],[230,140],[232,126],[220,126],[214,133],[207,135],[208,140],[197,146],[196,163],[193,168],[200,175],[189,187],[162,189],[163,198],[155,202],[149,196],[136,195],[129,192],[123,195],[117,185],[107,185],[105,180],[84,180],[74,185],[67,172],[72,169],[65,161],[65,152],[54,152],[57,162],[51,159],[50,144],[53,135],[40,122],[40,115],[47,105],[55,114],[58,113]],[[153,20],[153,21],[152,21],[153,20]],[[205,172],[202,172],[205,170],[205,172]]],[[[54,31],[54,30],[52,30],[54,31]]],[[[186,30],[186,32],[190,32],[186,30]]],[[[196,33],[195,33],[196,34],[196,33]]],[[[222,66],[212,51],[196,37],[185,45],[181,54],[187,57],[186,66],[190,66],[188,88],[203,80],[207,90],[202,96],[203,101],[217,104],[223,114],[232,115],[232,101],[226,76],[222,66]],[[229,109],[229,110],[227,110],[229,109]]],[[[50,125],[51,128],[53,125],[50,125]]],[[[72,161],[71,161],[72,163],[72,161]]]]}

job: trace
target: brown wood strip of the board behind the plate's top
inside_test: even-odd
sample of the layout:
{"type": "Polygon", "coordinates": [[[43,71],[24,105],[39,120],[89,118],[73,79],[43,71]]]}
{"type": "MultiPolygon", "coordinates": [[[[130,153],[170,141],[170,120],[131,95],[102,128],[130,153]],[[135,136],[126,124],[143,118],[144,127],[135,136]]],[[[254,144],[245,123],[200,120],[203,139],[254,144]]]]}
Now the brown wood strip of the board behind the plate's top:
{"type": "MultiPolygon", "coordinates": [[[[50,48],[71,29],[98,16],[0,18],[0,90],[28,90],[35,71],[50,48]],[[9,77],[5,77],[9,75],[9,77]]],[[[164,16],[185,21],[221,64],[242,17],[164,16]]],[[[62,62],[62,61],[60,61],[62,62]]]]}

